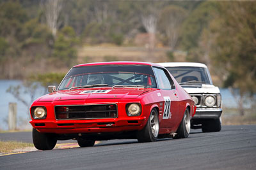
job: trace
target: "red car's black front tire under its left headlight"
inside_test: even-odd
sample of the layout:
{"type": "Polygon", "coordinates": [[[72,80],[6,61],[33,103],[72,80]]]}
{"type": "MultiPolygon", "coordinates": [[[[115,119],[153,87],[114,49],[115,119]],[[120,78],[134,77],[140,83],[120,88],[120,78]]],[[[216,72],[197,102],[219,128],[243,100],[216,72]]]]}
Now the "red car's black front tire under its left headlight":
{"type": "Polygon", "coordinates": [[[38,150],[52,150],[57,143],[57,140],[51,134],[40,133],[34,128],[32,136],[35,148],[38,150]]]}

